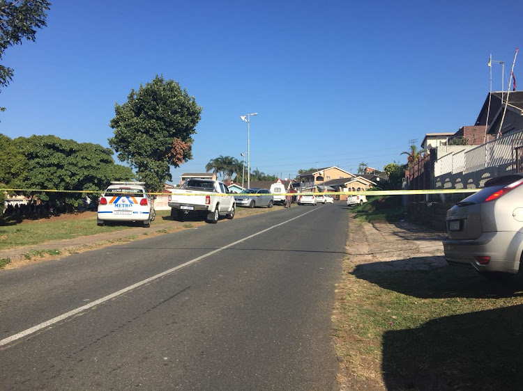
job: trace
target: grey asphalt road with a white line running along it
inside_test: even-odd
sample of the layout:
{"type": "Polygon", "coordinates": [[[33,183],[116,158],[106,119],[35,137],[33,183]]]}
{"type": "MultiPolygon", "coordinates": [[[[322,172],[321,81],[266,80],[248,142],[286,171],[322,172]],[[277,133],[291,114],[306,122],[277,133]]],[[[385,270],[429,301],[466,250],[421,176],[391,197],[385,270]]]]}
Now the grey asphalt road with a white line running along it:
{"type": "Polygon", "coordinates": [[[0,390],[332,390],[342,203],[0,273],[0,390]]]}

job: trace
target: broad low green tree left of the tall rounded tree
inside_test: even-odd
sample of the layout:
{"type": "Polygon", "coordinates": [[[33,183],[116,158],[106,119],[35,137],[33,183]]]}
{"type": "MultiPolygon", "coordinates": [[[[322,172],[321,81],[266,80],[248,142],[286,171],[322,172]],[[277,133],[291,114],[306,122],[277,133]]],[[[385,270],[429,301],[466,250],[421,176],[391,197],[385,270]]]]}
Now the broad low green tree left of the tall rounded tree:
{"type": "Polygon", "coordinates": [[[26,159],[26,170],[17,181],[24,189],[33,189],[24,191],[26,196],[77,206],[112,180],[135,178],[130,168],[115,164],[112,150],[102,145],[56,136],[19,137],[14,143],[26,159]]]}

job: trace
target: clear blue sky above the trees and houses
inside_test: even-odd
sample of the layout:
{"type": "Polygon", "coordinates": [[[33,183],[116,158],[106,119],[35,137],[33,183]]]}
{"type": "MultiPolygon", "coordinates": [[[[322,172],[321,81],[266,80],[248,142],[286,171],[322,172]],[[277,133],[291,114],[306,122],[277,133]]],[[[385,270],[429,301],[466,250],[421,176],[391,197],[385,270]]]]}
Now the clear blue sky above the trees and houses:
{"type": "Polygon", "coordinates": [[[242,160],[252,112],[252,170],[381,169],[405,163],[412,139],[474,125],[491,53],[508,86],[522,15],[521,1],[54,0],[36,42],[3,56],[15,77],[0,133],[107,147],[114,104],[162,74],[203,109],[173,182],[219,155],[242,160]]]}

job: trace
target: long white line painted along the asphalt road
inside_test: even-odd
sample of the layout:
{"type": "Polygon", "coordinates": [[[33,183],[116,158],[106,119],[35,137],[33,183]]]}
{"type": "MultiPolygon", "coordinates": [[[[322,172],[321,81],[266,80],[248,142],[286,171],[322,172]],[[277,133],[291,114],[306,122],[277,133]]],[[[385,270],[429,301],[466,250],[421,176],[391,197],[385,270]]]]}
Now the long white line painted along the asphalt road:
{"type": "Polygon", "coordinates": [[[53,319],[50,319],[50,320],[45,321],[43,323],[40,323],[40,324],[38,324],[36,326],[33,326],[31,328],[28,328],[27,330],[21,331],[20,333],[17,333],[15,335],[11,335],[10,337],[4,338],[3,340],[0,340],[0,346],[4,346],[6,344],[10,344],[10,342],[13,342],[13,341],[16,341],[16,340],[20,340],[20,338],[23,338],[23,337],[26,337],[27,335],[31,335],[33,333],[36,333],[38,330],[42,330],[43,328],[46,328],[47,326],[51,326],[52,324],[55,324],[55,323],[57,323],[59,321],[63,321],[63,319],[67,319],[69,317],[72,317],[73,315],[78,314],[79,312],[82,312],[82,311],[85,311],[85,310],[89,310],[89,308],[93,308],[94,306],[96,306],[98,304],[105,303],[106,301],[111,300],[112,298],[115,298],[116,296],[120,296],[121,294],[125,294],[126,292],[129,292],[132,289],[135,289],[137,287],[141,287],[142,285],[148,284],[149,282],[151,282],[153,280],[158,280],[158,278],[162,278],[163,276],[167,276],[167,274],[169,274],[169,273],[173,273],[174,271],[182,269],[185,266],[189,266],[190,264],[194,264],[195,262],[198,262],[199,260],[203,260],[206,257],[210,257],[211,255],[213,255],[215,253],[219,253],[220,251],[225,250],[226,248],[235,246],[236,244],[239,244],[242,241],[246,241],[246,240],[251,239],[251,238],[253,238],[253,237],[255,237],[255,236],[259,235],[259,234],[263,234],[264,232],[272,230],[273,228],[277,228],[280,225],[284,225],[284,224],[290,223],[291,221],[296,220],[296,218],[300,218],[302,216],[305,216],[305,214],[309,214],[310,212],[314,212],[317,209],[318,208],[314,208],[314,209],[312,209],[312,210],[310,210],[308,212],[305,212],[304,214],[301,214],[299,216],[290,218],[289,220],[284,221],[283,223],[279,223],[279,224],[273,225],[272,227],[266,228],[265,230],[261,230],[261,231],[255,233],[255,234],[252,234],[252,235],[250,235],[248,237],[245,237],[243,239],[235,241],[234,243],[227,244],[226,246],[223,246],[221,248],[217,248],[216,250],[213,250],[210,253],[206,253],[204,255],[201,255],[201,256],[195,258],[194,260],[190,260],[188,262],[185,262],[184,264],[181,264],[179,266],[173,267],[172,269],[163,271],[162,273],[158,273],[158,274],[156,274],[156,276],[149,277],[146,280],[142,280],[140,282],[137,282],[136,284],[130,285],[129,287],[120,289],[118,292],[114,292],[113,294],[109,294],[109,295],[107,295],[107,296],[105,296],[103,298],[99,298],[98,300],[93,301],[93,302],[91,302],[89,304],[82,305],[82,307],[75,308],[75,310],[71,310],[69,312],[66,312],[65,314],[59,315],[58,317],[55,317],[53,319]]]}

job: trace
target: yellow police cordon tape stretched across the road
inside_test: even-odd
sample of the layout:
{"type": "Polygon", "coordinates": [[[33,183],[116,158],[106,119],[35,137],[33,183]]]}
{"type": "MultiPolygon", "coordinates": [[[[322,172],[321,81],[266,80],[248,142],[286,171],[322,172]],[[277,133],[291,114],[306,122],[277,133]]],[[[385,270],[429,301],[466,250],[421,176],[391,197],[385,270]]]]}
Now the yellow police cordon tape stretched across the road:
{"type": "MultiPolygon", "coordinates": [[[[248,193],[248,196],[409,196],[409,195],[424,195],[424,194],[455,194],[455,193],[476,193],[481,189],[429,189],[429,190],[366,190],[366,191],[326,191],[326,192],[305,192],[301,193],[265,193],[255,194],[248,193]]],[[[0,191],[20,191],[25,193],[85,193],[102,195],[105,191],[92,190],[56,190],[56,189],[3,189],[0,191]]],[[[149,196],[170,196],[172,193],[147,193],[149,196]]],[[[206,193],[179,193],[176,191],[176,196],[209,196],[206,193]]],[[[241,193],[212,193],[213,196],[239,196],[241,193]]],[[[243,193],[245,194],[245,193],[243,193]]]]}

